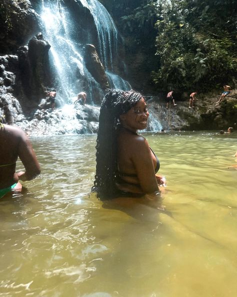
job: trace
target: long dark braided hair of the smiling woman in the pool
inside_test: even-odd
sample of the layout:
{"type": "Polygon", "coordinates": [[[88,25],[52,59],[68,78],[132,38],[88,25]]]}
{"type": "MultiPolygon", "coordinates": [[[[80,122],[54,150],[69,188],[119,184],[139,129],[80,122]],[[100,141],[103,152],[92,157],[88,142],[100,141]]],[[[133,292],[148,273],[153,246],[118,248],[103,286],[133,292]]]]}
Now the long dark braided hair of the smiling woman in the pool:
{"type": "Polygon", "coordinates": [[[96,173],[92,192],[100,200],[117,197],[117,131],[119,115],[133,107],[142,95],[133,90],[108,89],[101,103],[96,139],[96,173]]]}

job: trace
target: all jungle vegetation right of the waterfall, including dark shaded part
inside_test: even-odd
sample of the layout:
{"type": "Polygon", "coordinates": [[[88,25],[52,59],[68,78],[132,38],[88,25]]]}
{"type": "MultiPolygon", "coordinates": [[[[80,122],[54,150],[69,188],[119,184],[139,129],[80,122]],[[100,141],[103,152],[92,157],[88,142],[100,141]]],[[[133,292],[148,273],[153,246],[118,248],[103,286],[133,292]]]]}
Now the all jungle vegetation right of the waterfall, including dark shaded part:
{"type": "Polygon", "coordinates": [[[234,85],[235,0],[102,0],[126,46],[152,55],[151,77],[163,89],[234,85]]]}

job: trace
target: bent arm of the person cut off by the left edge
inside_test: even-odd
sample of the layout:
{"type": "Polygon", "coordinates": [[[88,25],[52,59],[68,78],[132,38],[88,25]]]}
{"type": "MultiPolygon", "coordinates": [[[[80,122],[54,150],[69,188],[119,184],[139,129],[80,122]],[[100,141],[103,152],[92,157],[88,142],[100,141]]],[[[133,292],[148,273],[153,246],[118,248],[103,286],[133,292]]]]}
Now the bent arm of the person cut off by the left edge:
{"type": "Polygon", "coordinates": [[[30,181],[40,174],[40,167],[32,145],[22,130],[19,132],[18,156],[25,168],[25,172],[21,171],[17,174],[19,180],[30,181]]]}

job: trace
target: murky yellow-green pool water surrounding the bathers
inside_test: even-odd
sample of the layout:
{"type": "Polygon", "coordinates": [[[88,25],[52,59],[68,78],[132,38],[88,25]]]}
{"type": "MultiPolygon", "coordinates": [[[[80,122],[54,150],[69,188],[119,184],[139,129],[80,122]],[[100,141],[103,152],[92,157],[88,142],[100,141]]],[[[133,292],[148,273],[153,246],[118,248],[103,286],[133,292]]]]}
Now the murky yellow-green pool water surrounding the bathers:
{"type": "Polygon", "coordinates": [[[234,296],[236,135],[146,134],[167,180],[152,206],[87,195],[95,138],[32,139],[40,177],[0,200],[0,296],[234,296]]]}

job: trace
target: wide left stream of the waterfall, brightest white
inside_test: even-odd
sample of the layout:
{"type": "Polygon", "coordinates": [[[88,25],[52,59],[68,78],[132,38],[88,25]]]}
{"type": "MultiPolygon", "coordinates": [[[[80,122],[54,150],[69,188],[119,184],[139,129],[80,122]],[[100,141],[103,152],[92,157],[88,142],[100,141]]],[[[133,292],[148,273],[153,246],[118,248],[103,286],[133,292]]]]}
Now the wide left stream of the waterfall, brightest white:
{"type": "Polygon", "coordinates": [[[52,68],[56,70],[57,101],[61,105],[70,103],[71,98],[82,91],[84,85],[88,91],[87,98],[92,101],[92,89],[101,92],[100,86],[85,67],[82,46],[70,37],[69,13],[64,8],[59,11],[55,3],[50,3],[43,6],[41,19],[44,38],[51,45],[49,59],[52,61],[52,68]],[[80,77],[83,79],[79,80],[80,77]]]}

